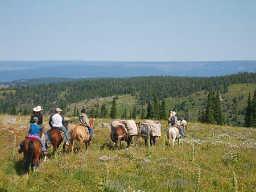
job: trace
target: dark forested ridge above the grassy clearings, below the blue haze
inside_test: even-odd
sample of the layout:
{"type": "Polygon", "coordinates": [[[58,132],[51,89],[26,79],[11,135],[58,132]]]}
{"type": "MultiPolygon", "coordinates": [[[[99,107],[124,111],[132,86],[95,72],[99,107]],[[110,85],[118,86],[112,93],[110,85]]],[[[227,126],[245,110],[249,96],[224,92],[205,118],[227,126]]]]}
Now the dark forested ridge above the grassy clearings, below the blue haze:
{"type": "Polygon", "coordinates": [[[237,73],[222,77],[151,76],[130,78],[95,78],[60,84],[16,86],[0,90],[1,113],[22,113],[42,105],[44,111],[86,99],[139,93],[138,101],[147,103],[158,98],[186,97],[195,91],[214,90],[225,93],[232,84],[255,84],[256,73],[237,73]]]}

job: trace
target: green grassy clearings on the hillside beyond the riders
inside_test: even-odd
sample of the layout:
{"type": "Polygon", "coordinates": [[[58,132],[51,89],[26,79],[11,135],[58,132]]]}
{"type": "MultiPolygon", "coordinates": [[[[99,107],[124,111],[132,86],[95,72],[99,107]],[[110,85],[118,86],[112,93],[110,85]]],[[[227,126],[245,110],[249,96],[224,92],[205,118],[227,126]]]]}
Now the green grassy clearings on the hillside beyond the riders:
{"type": "MultiPolygon", "coordinates": [[[[255,84],[234,84],[228,87],[228,92],[225,94],[220,93],[220,96],[223,98],[222,100],[222,111],[224,112],[224,116],[229,117],[229,123],[232,126],[242,126],[244,121],[244,116],[240,114],[238,111],[244,110],[247,106],[247,98],[249,91],[251,93],[251,97],[253,97],[254,90],[256,89],[255,84]],[[233,99],[237,98],[237,107],[236,112],[233,110],[234,102],[233,99]],[[237,119],[236,118],[237,114],[237,119]]],[[[169,110],[173,110],[175,105],[180,105],[184,102],[185,110],[177,110],[177,118],[178,119],[187,119],[186,113],[189,114],[189,122],[197,122],[199,108],[205,106],[207,103],[207,95],[208,91],[196,91],[187,97],[182,98],[173,98],[169,97],[166,98],[166,116],[168,117],[169,110]]],[[[129,116],[130,111],[136,105],[137,109],[141,108],[141,105],[138,105],[138,98],[139,95],[118,95],[118,99],[116,100],[117,103],[117,118],[121,118],[122,113],[125,111],[129,116]]],[[[108,113],[110,114],[110,108],[112,106],[113,97],[107,98],[98,98],[98,99],[89,99],[86,101],[82,101],[79,103],[73,103],[71,106],[68,106],[70,109],[66,112],[66,115],[73,115],[73,110],[76,107],[81,110],[81,108],[86,108],[89,112],[90,108],[95,105],[102,106],[105,102],[106,108],[108,108],[108,113]]],[[[146,111],[147,105],[143,106],[144,110],[146,111]]],[[[80,111],[79,111],[80,112],[80,111]]]]}

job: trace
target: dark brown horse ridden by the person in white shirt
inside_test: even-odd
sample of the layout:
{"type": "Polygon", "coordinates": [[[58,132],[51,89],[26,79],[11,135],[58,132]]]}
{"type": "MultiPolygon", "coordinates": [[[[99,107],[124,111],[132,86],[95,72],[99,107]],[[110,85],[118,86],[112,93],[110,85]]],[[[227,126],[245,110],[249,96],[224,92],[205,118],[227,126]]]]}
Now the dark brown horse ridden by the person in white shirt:
{"type": "MultiPolygon", "coordinates": [[[[65,122],[64,127],[68,131],[68,120],[64,119],[64,122],[65,122]]],[[[64,134],[64,132],[62,132],[60,130],[57,130],[57,129],[53,129],[53,128],[51,128],[51,130],[48,130],[47,134],[48,134],[49,140],[52,143],[52,146],[53,146],[52,155],[54,155],[54,153],[57,151],[57,148],[59,148],[60,144],[63,142],[63,140],[65,140],[65,134],[64,134]]],[[[67,149],[67,145],[64,144],[63,145],[63,152],[65,152],[66,149],[67,149]]]]}

